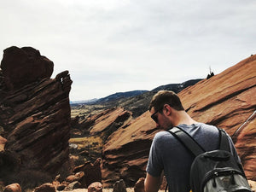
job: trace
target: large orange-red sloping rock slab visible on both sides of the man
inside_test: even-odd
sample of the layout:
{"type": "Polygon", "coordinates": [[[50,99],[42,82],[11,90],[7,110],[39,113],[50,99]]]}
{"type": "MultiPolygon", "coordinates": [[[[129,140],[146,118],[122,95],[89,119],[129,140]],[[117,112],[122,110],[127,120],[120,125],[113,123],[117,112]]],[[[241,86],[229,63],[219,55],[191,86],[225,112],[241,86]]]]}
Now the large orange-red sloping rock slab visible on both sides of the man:
{"type": "MultiPolygon", "coordinates": [[[[252,55],[178,94],[195,120],[217,125],[230,136],[236,132],[232,138],[246,175],[252,180],[256,180],[255,66],[256,55],[252,55]]],[[[139,177],[145,177],[149,148],[157,131],[150,113],[146,112],[108,138],[102,152],[105,186],[113,186],[120,178],[128,186],[134,186],[139,177]]]]}

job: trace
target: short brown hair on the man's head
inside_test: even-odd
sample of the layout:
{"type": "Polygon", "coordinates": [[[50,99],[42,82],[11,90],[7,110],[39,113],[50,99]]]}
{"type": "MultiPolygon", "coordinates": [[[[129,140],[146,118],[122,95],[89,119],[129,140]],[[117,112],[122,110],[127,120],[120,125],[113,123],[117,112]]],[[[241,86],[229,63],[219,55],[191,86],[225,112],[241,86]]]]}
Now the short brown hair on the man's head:
{"type": "Polygon", "coordinates": [[[168,104],[177,111],[183,111],[183,104],[181,103],[179,97],[172,90],[160,90],[152,98],[149,104],[149,111],[154,108],[155,111],[161,111],[164,105],[168,104]]]}

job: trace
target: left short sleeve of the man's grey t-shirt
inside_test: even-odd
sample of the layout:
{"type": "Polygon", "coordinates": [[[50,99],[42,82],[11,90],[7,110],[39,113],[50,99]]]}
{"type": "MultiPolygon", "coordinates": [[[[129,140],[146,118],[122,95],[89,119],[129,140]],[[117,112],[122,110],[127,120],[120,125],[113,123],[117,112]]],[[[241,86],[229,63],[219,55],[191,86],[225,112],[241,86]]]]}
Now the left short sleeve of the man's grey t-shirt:
{"type": "Polygon", "coordinates": [[[146,171],[153,177],[160,177],[160,174],[163,171],[160,150],[160,134],[158,133],[155,135],[151,144],[146,171]]]}

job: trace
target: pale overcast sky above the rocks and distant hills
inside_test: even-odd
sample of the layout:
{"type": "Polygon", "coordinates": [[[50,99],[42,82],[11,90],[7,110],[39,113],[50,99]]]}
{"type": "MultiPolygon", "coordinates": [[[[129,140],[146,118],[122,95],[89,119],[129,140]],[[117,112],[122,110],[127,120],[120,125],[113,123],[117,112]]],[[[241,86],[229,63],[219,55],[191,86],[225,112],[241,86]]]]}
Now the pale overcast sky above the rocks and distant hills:
{"type": "Polygon", "coordinates": [[[255,0],[0,1],[0,51],[68,70],[71,101],[204,79],[256,52],[255,0]]]}

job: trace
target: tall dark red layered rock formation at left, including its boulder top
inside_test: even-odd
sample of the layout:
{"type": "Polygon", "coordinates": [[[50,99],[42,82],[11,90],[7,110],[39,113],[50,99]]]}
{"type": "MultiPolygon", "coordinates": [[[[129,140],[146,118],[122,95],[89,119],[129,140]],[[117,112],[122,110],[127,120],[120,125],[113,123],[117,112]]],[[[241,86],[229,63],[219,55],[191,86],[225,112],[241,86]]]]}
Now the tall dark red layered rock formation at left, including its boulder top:
{"type": "MultiPolygon", "coordinates": [[[[2,156],[11,154],[20,169],[55,174],[67,162],[70,131],[67,71],[49,79],[53,62],[33,48],[4,50],[0,70],[0,126],[7,139],[2,156]]],[[[8,158],[7,158],[8,159],[8,158]]],[[[1,161],[1,176],[12,170],[1,161]]]]}

